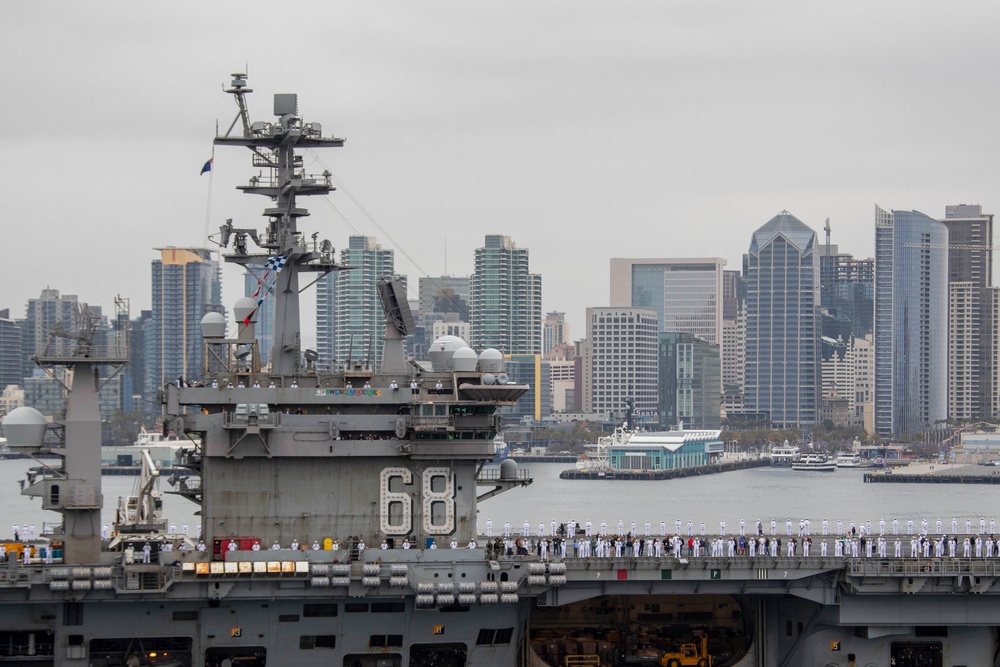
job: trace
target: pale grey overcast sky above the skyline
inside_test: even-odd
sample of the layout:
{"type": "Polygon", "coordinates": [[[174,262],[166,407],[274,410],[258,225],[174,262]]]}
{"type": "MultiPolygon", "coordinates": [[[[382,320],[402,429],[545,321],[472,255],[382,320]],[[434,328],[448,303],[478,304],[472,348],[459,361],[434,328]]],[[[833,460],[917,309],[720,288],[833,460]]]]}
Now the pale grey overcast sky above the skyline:
{"type": "MultiPolygon", "coordinates": [[[[25,2],[0,56],[14,317],[46,286],[137,315],[152,248],[263,226],[266,200],[232,189],[245,149],[216,152],[211,192],[199,176],[245,69],[254,119],[297,92],[346,137],[310,170],[385,232],[341,193],[307,200],[302,227],[338,250],[378,237],[414,289],[509,235],[574,338],[608,303],[611,257],[739,269],[783,209],[869,257],[875,204],[1000,209],[995,0],[25,2]]],[[[228,305],[241,289],[227,274],[228,305]]]]}

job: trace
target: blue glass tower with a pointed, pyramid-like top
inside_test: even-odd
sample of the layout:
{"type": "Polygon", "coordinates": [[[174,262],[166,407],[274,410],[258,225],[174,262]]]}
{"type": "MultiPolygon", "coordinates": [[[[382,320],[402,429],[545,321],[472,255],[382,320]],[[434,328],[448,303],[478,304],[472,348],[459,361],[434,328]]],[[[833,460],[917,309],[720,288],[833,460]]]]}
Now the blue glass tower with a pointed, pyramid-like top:
{"type": "Polygon", "coordinates": [[[782,211],[753,234],[747,281],[746,409],[778,428],[819,417],[819,252],[816,232],[782,211]]]}

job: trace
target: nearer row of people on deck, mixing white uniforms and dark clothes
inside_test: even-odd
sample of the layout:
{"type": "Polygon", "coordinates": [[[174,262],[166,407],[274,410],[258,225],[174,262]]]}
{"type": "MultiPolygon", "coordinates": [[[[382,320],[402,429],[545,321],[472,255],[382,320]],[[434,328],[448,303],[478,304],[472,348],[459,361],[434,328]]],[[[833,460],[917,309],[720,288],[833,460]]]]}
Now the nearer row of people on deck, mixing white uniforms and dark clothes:
{"type": "MultiPolygon", "coordinates": [[[[819,538],[817,538],[819,539],[819,538]]],[[[728,536],[702,539],[700,537],[683,538],[673,535],[666,538],[635,538],[626,536],[598,536],[592,539],[580,539],[570,542],[555,538],[549,540],[540,538],[496,538],[493,544],[488,544],[500,555],[527,555],[535,553],[542,560],[548,560],[550,553],[561,558],[623,558],[646,556],[652,558],[674,557],[730,557],[747,556],[796,556],[811,557],[817,555],[814,551],[811,537],[801,539],[792,537],[782,542],[780,537],[750,537],[728,536]]],[[[903,558],[904,542],[896,538],[890,541],[885,537],[864,538],[843,536],[839,538],[819,540],[819,556],[821,557],[879,557],[903,558]],[[891,549],[891,554],[890,554],[891,549]],[[832,552],[832,553],[831,553],[832,552]]],[[[1000,557],[1000,539],[990,535],[985,540],[981,535],[965,537],[961,541],[955,535],[942,535],[935,539],[924,535],[914,535],[910,538],[910,558],[994,558],[1000,557]],[[959,548],[961,547],[961,556],[959,548]]]]}

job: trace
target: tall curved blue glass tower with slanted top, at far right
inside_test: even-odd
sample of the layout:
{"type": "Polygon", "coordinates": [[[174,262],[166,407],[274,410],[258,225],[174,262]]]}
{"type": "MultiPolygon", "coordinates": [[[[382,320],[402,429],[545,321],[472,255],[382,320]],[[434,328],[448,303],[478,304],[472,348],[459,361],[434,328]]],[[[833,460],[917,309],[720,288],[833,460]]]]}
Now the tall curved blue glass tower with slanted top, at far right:
{"type": "Polygon", "coordinates": [[[875,207],[875,430],[938,428],[948,410],[948,228],[875,207]]]}

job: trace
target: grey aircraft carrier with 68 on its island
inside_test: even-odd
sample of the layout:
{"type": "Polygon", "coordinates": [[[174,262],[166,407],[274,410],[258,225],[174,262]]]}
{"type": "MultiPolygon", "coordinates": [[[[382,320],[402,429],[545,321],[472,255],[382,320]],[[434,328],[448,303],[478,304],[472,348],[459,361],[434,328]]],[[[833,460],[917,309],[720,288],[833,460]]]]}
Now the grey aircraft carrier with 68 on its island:
{"type": "Polygon", "coordinates": [[[127,336],[103,342],[86,318],[55,332],[75,351],[37,362],[72,371],[63,418],[46,425],[22,408],[4,428],[12,449],[62,457],[22,493],[63,522],[5,546],[0,663],[998,664],[996,557],[564,556],[551,532],[543,557],[477,535],[479,501],[531,483],[513,461],[486,465],[498,408],[529,388],[509,382],[501,352],[457,338],[435,341],[429,362],[408,359],[412,318],[391,276],[378,367],[323,367],[302,349],[303,277],[351,267],[299,230],[298,197],[334,190],[301,152],[344,140],[305,122],[295,95],[252,121],[242,74],[227,92],[237,115],[216,144],[249,150],[258,174],[239,189],[269,204],[263,230],[227,221],[219,238],[227,261],[265,267],[271,363],[260,363],[259,298],[238,302],[233,323],[206,315],[203,375],[162,390],[166,428],[191,442],[175,491],[198,504],[203,533],[165,528],[146,462],[105,536],[97,378],[126,363],[127,336]]]}

